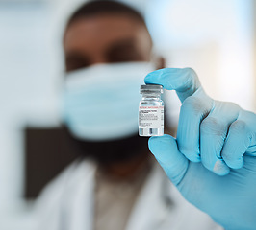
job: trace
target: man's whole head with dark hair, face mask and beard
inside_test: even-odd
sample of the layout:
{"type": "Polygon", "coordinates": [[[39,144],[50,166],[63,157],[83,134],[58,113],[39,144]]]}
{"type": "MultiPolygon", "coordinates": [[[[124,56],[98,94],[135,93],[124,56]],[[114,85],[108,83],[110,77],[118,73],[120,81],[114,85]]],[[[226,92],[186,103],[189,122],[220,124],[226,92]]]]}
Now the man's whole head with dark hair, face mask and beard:
{"type": "Polygon", "coordinates": [[[152,39],[141,14],[115,1],[85,3],[67,21],[63,46],[66,79],[77,79],[71,85],[80,90],[72,88],[66,100],[66,127],[76,143],[100,162],[147,150],[137,124],[145,65],[136,63],[151,61],[152,39]]]}

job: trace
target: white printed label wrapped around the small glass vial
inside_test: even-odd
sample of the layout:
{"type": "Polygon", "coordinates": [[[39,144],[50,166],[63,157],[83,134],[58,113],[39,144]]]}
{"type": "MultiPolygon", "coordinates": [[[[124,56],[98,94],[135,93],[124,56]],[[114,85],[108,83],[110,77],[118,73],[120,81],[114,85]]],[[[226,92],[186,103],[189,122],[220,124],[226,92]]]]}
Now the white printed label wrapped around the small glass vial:
{"type": "Polygon", "coordinates": [[[139,128],[164,128],[164,106],[140,106],[139,128]]]}

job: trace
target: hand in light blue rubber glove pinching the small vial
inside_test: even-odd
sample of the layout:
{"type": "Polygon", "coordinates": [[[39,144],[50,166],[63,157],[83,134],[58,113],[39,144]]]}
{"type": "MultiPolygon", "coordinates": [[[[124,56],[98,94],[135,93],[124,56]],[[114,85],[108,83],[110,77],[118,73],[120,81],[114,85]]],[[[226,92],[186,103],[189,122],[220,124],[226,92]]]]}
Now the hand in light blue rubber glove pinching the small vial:
{"type": "Polygon", "coordinates": [[[190,69],[161,69],[145,83],[176,90],[177,138],[151,137],[149,149],[180,193],[227,230],[256,229],[256,115],[214,101],[190,69]]]}

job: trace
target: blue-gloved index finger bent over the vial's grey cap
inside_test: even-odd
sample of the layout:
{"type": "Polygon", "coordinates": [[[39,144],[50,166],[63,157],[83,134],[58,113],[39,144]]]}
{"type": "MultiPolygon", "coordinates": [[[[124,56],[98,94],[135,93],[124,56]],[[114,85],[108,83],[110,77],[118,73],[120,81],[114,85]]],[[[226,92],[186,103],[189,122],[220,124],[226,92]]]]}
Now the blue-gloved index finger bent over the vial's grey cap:
{"type": "Polygon", "coordinates": [[[175,90],[180,101],[184,100],[201,87],[200,81],[192,68],[165,68],[149,73],[146,84],[161,84],[167,90],[175,90]]]}

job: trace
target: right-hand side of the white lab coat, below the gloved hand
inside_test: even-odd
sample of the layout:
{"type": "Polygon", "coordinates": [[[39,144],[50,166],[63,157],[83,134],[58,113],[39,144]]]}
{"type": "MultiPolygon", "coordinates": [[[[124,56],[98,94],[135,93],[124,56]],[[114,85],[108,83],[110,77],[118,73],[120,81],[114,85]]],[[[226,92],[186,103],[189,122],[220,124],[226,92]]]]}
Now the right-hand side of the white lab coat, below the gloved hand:
{"type": "Polygon", "coordinates": [[[196,209],[156,165],[138,197],[126,230],[223,230],[196,209]]]}

